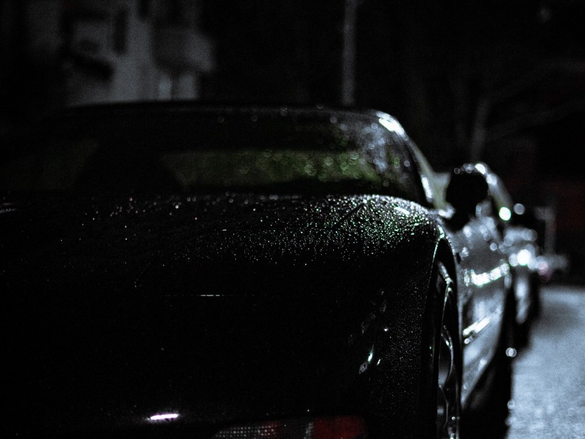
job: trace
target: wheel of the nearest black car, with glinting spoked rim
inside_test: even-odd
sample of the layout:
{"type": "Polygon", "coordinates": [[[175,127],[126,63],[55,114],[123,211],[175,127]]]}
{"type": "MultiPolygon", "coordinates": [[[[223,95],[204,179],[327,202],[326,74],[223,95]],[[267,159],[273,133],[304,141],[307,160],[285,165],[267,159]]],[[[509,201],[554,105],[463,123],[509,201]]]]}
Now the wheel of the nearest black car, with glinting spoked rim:
{"type": "MultiPolygon", "coordinates": [[[[425,437],[438,439],[459,438],[460,393],[462,380],[462,352],[456,292],[453,281],[443,264],[436,264],[433,281],[429,290],[427,319],[428,341],[432,340],[429,356],[421,358],[432,364],[432,379],[429,395],[421,394],[426,400],[429,431],[425,437]]],[[[430,343],[429,343],[430,344],[430,343]]],[[[429,345],[427,344],[427,346],[429,345]]],[[[423,344],[424,347],[424,344],[423,344]]],[[[427,347],[428,351],[428,347],[427,347]]],[[[428,366],[427,366],[428,367],[428,366]]]]}

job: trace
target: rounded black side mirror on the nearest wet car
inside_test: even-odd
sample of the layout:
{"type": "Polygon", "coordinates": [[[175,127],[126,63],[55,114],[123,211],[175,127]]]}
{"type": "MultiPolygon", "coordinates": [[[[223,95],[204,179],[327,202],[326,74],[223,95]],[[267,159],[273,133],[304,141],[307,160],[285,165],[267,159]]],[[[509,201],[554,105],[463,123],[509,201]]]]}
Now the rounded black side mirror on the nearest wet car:
{"type": "Polygon", "coordinates": [[[455,215],[469,219],[476,206],[486,199],[488,186],[485,175],[473,164],[464,164],[451,171],[445,199],[455,209],[455,215]]]}

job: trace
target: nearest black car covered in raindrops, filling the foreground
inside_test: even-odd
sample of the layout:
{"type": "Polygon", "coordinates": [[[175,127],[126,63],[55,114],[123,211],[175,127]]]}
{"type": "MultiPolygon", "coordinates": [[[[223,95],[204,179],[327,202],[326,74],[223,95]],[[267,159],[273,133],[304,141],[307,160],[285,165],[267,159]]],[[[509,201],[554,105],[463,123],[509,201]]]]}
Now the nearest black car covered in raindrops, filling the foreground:
{"type": "Polygon", "coordinates": [[[515,303],[485,175],[445,196],[391,116],[111,105],[3,144],[6,437],[502,427],[515,303]]]}

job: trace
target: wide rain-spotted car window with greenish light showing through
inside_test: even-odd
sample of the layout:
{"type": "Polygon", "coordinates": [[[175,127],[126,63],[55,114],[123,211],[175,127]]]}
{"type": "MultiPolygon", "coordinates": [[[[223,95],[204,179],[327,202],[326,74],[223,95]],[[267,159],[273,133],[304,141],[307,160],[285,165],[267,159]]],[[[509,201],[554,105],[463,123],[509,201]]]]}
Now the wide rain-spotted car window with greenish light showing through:
{"type": "Polygon", "coordinates": [[[5,144],[0,183],[12,191],[418,195],[394,134],[342,111],[102,107],[45,120],[5,144]]]}

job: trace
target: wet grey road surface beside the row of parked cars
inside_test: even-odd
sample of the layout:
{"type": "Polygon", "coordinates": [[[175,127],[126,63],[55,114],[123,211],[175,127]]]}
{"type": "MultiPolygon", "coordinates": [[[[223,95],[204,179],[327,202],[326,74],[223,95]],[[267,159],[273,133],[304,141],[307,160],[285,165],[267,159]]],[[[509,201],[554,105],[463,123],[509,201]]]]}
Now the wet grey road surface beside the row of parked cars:
{"type": "Polygon", "coordinates": [[[585,288],[545,287],[516,358],[507,439],[585,438],[585,288]]]}

